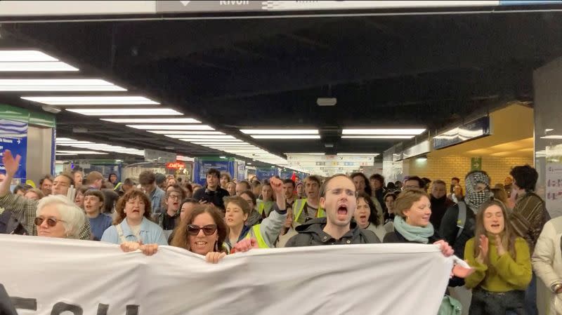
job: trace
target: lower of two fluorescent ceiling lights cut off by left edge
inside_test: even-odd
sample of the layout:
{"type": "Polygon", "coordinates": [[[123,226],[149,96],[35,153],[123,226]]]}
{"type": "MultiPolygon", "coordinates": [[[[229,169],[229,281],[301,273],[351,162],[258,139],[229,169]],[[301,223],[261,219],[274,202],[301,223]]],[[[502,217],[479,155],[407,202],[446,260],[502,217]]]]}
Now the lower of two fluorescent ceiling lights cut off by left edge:
{"type": "Polygon", "coordinates": [[[126,91],[100,79],[0,79],[0,91],[126,91]]]}

